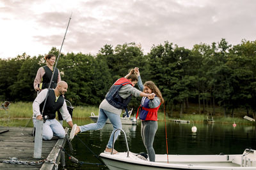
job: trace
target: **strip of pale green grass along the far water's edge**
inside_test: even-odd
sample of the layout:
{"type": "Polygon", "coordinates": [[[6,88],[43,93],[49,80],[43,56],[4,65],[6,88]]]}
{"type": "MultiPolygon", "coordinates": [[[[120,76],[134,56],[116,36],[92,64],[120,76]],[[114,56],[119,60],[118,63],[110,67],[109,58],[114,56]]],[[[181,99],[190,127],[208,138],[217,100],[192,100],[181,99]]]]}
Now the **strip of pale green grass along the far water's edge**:
{"type": "MultiPolygon", "coordinates": [[[[95,115],[98,115],[99,108],[96,106],[74,106],[73,110],[73,117],[74,118],[88,118],[91,116],[91,113],[95,113],[95,115]]],[[[132,113],[132,116],[136,111],[132,113]]],[[[4,110],[1,110],[0,115],[3,115],[4,110]]],[[[8,114],[10,115],[10,118],[31,118],[33,115],[32,110],[32,103],[24,103],[24,102],[17,102],[17,103],[11,103],[9,106],[8,114]]],[[[1,117],[0,117],[1,118],[1,117]]],[[[158,118],[160,121],[164,120],[164,113],[159,112],[158,118]]],[[[189,120],[190,122],[204,122],[204,120],[207,118],[207,115],[204,114],[182,114],[182,118],[179,117],[179,114],[173,114],[172,117],[166,117],[166,120],[189,120]]],[[[249,125],[256,125],[255,122],[250,122],[248,120],[245,120],[240,117],[223,117],[220,115],[214,116],[214,123],[220,123],[220,124],[249,124],[249,125]]]]}

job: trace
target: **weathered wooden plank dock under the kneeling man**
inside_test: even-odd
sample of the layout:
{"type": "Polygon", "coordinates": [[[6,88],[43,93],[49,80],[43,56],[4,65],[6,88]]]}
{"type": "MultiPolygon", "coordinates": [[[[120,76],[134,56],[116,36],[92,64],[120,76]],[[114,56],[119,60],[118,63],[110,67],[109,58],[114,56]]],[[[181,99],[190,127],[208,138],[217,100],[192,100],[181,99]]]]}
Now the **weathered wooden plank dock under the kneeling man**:
{"type": "MultiPolygon", "coordinates": [[[[58,165],[60,162],[60,147],[65,146],[66,139],[52,138],[51,141],[43,141],[42,158],[34,159],[34,142],[32,127],[1,127],[0,126],[0,169],[24,169],[26,170],[49,170],[54,169],[54,164],[45,162],[44,164],[6,164],[4,160],[17,158],[19,161],[38,162],[39,160],[54,160],[58,165]]],[[[66,127],[65,132],[68,132],[66,127]]]]}

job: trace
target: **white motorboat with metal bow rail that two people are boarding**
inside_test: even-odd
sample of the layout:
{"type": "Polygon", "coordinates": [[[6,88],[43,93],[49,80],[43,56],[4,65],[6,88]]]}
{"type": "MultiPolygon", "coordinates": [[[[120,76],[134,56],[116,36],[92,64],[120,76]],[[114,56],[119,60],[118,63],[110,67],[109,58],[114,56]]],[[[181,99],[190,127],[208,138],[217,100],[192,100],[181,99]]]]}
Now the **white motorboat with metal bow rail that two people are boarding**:
{"type": "MultiPolygon", "coordinates": [[[[122,129],[119,130],[122,131],[122,129]]],[[[106,164],[106,166],[108,166],[110,170],[256,169],[256,150],[251,149],[244,150],[243,154],[240,155],[168,155],[168,157],[167,155],[156,155],[156,162],[150,162],[141,155],[129,152],[127,143],[126,147],[127,152],[118,152],[117,154],[100,153],[100,158],[103,160],[104,164],[106,164]]]]}

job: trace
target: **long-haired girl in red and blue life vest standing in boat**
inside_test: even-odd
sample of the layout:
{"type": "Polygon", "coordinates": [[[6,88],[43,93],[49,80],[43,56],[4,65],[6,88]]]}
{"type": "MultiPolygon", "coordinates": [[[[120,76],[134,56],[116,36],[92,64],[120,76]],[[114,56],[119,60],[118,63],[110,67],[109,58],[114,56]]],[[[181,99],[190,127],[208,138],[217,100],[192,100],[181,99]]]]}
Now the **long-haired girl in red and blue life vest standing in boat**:
{"type": "Polygon", "coordinates": [[[137,118],[138,113],[140,112],[141,138],[147,149],[149,160],[155,162],[156,154],[153,148],[153,143],[157,131],[157,111],[160,108],[161,103],[164,103],[164,99],[153,81],[147,81],[143,85],[139,69],[136,68],[135,71],[138,75],[139,89],[146,94],[156,94],[156,96],[142,97],[140,108],[136,115],[137,118]]]}

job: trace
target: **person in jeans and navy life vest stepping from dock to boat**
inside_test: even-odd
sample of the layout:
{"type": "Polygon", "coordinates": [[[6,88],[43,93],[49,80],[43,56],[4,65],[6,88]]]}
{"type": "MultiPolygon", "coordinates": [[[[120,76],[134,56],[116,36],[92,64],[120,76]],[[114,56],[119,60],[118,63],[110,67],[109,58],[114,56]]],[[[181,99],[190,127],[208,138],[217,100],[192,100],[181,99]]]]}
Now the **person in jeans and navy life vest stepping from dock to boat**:
{"type": "MultiPolygon", "coordinates": [[[[108,93],[105,96],[105,99],[100,103],[99,106],[99,118],[95,124],[75,126],[70,132],[70,139],[78,132],[85,132],[90,130],[102,129],[106,124],[106,121],[110,120],[113,125],[113,132],[108,141],[108,145],[104,152],[111,153],[113,146],[113,134],[116,129],[122,129],[122,123],[120,120],[120,115],[122,110],[127,110],[127,105],[129,104],[131,97],[150,97],[152,94],[141,92],[136,89],[134,85],[138,82],[138,77],[135,74],[135,70],[131,69],[129,74],[125,77],[119,78],[109,89],[108,93]]],[[[120,131],[117,131],[115,134],[115,139],[118,138],[120,131]]],[[[115,141],[114,141],[115,142],[115,141]]],[[[116,150],[113,150],[113,153],[118,153],[116,150]]]]}

